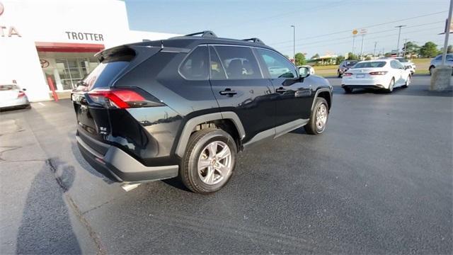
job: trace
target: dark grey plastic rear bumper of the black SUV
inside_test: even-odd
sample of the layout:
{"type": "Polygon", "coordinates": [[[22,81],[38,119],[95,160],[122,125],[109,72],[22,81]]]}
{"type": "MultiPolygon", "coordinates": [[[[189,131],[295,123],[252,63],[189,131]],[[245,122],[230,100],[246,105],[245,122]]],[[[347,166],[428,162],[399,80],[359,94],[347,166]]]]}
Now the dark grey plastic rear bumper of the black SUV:
{"type": "Polygon", "coordinates": [[[178,176],[178,165],[144,166],[121,149],[109,146],[103,155],[86,144],[76,135],[77,145],[86,161],[96,171],[112,181],[142,182],[169,179],[178,176]]]}

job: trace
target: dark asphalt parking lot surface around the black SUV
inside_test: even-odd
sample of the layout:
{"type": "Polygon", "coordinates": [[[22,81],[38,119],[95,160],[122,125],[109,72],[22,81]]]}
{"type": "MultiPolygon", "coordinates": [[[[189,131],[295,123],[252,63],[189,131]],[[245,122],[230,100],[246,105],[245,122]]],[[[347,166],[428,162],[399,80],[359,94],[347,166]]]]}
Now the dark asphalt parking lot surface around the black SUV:
{"type": "Polygon", "coordinates": [[[103,179],[70,101],[1,113],[0,253],[452,254],[453,95],[429,79],[392,94],[329,79],[326,132],[240,154],[212,196],[103,179]]]}

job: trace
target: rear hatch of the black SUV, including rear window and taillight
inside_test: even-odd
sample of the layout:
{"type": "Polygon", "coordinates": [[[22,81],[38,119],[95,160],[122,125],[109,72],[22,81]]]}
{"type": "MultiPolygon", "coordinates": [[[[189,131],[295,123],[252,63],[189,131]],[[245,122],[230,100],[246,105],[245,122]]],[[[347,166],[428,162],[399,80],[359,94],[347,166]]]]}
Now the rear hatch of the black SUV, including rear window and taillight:
{"type": "Polygon", "coordinates": [[[142,107],[147,105],[147,96],[142,91],[128,88],[113,88],[113,84],[128,70],[156,52],[158,47],[123,45],[104,50],[96,55],[100,64],[88,76],[79,81],[72,92],[71,100],[77,118],[77,133],[91,148],[101,154],[108,149],[111,134],[109,114],[113,109],[142,107]]]}

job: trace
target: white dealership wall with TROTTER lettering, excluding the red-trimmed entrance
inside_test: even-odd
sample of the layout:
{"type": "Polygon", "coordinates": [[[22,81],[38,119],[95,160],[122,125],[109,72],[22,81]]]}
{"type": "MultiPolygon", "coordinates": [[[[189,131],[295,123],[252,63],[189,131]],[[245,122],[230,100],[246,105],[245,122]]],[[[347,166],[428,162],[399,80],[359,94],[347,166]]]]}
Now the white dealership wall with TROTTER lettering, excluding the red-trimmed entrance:
{"type": "Polygon", "coordinates": [[[130,31],[124,1],[0,0],[0,3],[4,6],[0,28],[5,27],[0,30],[0,83],[16,80],[27,89],[31,101],[49,99],[35,42],[93,43],[108,48],[175,36],[130,31]],[[21,36],[9,36],[11,27],[21,36]],[[87,34],[74,38],[72,33],[87,34]]]}

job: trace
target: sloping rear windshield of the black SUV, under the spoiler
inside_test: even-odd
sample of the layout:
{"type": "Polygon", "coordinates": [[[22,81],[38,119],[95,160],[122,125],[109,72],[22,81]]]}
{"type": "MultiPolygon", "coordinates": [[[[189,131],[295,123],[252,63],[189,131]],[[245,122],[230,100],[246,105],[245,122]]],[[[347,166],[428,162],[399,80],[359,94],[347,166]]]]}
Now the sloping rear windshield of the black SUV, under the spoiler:
{"type": "Polygon", "coordinates": [[[122,69],[125,69],[130,61],[134,58],[133,50],[113,52],[103,58],[99,64],[82,82],[82,85],[88,86],[88,90],[98,87],[110,86],[122,69]]]}

